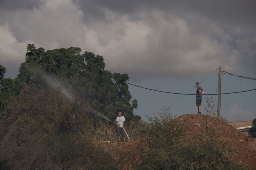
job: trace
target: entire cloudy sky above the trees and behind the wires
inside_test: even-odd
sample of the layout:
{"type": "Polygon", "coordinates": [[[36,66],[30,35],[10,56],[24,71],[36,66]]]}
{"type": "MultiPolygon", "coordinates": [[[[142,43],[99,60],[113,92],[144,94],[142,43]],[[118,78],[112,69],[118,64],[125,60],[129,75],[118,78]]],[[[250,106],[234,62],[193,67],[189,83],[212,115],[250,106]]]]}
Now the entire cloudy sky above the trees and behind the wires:
{"type": "MultiPolygon", "coordinates": [[[[107,70],[129,74],[130,83],[188,92],[219,66],[256,77],[255,9],[254,0],[1,0],[0,64],[7,68],[5,76],[14,78],[27,44],[46,50],[80,47],[102,55],[107,70]]],[[[212,76],[203,84],[206,92],[216,92],[217,75],[212,76]]],[[[256,87],[255,80],[228,78],[223,90],[256,87]]],[[[142,117],[181,97],[130,91],[142,117]]],[[[223,97],[223,117],[252,120],[255,96],[253,91],[223,97]]],[[[196,113],[194,97],[182,98],[171,112],[196,113]]]]}

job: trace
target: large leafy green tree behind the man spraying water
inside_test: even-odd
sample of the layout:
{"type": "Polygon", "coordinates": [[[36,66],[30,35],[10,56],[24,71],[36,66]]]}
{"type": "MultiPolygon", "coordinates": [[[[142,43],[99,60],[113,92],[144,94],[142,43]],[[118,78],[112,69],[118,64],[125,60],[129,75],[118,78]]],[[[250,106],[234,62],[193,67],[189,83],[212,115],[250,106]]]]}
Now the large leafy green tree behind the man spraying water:
{"type": "Polygon", "coordinates": [[[81,48],[77,47],[45,51],[28,44],[26,61],[21,64],[17,79],[45,87],[42,75],[53,75],[74,96],[84,98],[108,118],[114,120],[116,113],[122,111],[127,120],[131,120],[135,116],[133,109],[137,107],[137,100],[130,101],[132,96],[125,83],[129,76],[105,70],[101,55],[80,53],[81,48]]]}

